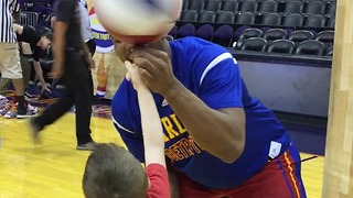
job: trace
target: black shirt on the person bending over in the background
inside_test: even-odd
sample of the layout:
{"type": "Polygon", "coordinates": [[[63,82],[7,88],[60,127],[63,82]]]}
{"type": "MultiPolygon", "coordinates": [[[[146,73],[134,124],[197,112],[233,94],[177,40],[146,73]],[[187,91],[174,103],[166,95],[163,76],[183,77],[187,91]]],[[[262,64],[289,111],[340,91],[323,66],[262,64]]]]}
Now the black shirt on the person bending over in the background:
{"type": "Polygon", "coordinates": [[[39,35],[39,33],[36,33],[34,28],[23,26],[22,34],[17,34],[17,36],[19,42],[25,42],[30,44],[31,51],[32,51],[32,57],[34,61],[39,62],[42,48],[36,44],[41,40],[41,36],[39,35]]]}

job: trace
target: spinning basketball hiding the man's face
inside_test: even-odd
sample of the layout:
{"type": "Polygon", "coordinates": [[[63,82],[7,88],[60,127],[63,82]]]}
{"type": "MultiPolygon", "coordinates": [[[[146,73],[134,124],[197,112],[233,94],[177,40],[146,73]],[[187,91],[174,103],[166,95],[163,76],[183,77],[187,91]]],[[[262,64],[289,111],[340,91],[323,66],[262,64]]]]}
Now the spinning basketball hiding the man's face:
{"type": "Polygon", "coordinates": [[[116,40],[145,44],[168,34],[180,16],[182,0],[93,0],[100,24],[116,40]]]}

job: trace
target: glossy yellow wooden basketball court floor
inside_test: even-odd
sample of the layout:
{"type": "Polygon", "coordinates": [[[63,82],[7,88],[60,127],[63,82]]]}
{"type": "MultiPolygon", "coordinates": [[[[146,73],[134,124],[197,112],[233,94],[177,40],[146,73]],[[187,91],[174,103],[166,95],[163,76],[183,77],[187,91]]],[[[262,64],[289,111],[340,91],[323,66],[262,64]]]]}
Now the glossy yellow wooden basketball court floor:
{"type": "MultiPolygon", "coordinates": [[[[83,198],[82,176],[89,152],[76,151],[75,118],[67,113],[32,143],[26,120],[0,118],[0,198],[83,198]]],[[[110,119],[92,119],[96,142],[122,145],[110,119]]],[[[323,157],[301,154],[309,198],[321,198],[323,157]]]]}

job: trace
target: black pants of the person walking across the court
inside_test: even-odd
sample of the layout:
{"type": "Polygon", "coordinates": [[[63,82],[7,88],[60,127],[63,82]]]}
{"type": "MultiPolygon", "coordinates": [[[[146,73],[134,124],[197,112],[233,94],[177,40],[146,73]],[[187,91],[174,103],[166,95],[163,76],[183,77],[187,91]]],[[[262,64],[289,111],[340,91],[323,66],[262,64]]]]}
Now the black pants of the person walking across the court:
{"type": "Polygon", "coordinates": [[[92,75],[82,51],[66,52],[65,58],[65,92],[55,103],[46,110],[34,122],[40,128],[52,124],[65,114],[74,105],[76,107],[76,138],[78,144],[92,141],[90,138],[90,114],[92,114],[92,75]]]}

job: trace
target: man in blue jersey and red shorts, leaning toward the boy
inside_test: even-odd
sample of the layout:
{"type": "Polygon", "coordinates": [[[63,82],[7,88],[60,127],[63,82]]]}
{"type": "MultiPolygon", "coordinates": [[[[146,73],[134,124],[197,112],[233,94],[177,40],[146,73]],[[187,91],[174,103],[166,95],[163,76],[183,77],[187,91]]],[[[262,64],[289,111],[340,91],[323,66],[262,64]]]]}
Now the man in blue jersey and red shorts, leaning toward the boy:
{"type": "MultiPolygon", "coordinates": [[[[196,37],[142,47],[116,42],[115,48],[121,61],[142,68],[153,91],[180,197],[306,197],[295,143],[274,112],[249,96],[225,48],[196,37]]],[[[129,81],[121,82],[111,109],[124,142],[143,162],[129,81]]]]}

